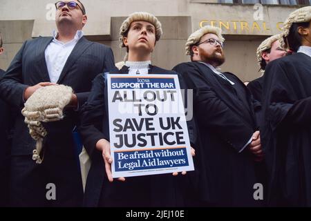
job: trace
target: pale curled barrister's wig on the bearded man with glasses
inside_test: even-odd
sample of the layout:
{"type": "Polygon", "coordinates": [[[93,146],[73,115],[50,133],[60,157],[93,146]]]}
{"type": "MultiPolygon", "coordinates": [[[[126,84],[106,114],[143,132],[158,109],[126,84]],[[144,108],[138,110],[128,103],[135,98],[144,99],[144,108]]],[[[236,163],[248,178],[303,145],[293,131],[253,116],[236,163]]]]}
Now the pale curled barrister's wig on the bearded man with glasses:
{"type": "Polygon", "coordinates": [[[201,37],[206,34],[215,34],[218,36],[220,41],[225,41],[225,39],[223,38],[223,35],[221,35],[220,28],[217,28],[214,26],[204,26],[200,28],[199,30],[196,30],[195,32],[193,32],[187,39],[186,48],[185,48],[186,55],[191,55],[192,46],[196,45],[200,41],[201,37]]]}

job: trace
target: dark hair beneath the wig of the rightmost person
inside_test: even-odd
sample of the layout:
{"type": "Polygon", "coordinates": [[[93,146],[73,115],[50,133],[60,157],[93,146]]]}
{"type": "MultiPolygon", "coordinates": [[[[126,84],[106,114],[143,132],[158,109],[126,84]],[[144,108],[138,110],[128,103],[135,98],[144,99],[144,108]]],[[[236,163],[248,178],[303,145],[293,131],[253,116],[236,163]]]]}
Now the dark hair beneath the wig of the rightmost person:
{"type": "Polygon", "coordinates": [[[309,25],[310,21],[292,24],[292,27],[290,27],[290,34],[284,39],[285,43],[288,44],[290,50],[296,52],[301,46],[302,37],[298,32],[299,26],[302,26],[303,28],[308,28],[309,25]]]}

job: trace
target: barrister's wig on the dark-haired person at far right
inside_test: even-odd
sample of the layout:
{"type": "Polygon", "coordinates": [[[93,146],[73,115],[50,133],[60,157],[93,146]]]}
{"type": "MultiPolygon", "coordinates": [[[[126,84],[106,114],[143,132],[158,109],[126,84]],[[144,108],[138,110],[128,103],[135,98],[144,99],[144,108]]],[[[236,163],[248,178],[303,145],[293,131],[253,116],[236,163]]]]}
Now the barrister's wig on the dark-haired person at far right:
{"type": "Polygon", "coordinates": [[[283,48],[290,48],[288,45],[288,35],[294,23],[305,23],[311,20],[311,6],[299,8],[290,13],[288,19],[283,24],[283,39],[281,39],[281,46],[283,48]]]}

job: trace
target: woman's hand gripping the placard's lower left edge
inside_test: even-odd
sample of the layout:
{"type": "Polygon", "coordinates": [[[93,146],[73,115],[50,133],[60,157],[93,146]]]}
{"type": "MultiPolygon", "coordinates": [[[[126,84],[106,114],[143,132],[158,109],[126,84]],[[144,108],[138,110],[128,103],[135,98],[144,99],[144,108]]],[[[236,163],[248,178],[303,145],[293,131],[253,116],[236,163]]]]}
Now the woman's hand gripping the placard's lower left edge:
{"type": "MultiPolygon", "coordinates": [[[[96,148],[99,151],[102,151],[102,157],[104,158],[105,162],[105,169],[106,169],[106,175],[108,177],[109,182],[113,182],[113,175],[111,172],[111,164],[113,162],[113,159],[110,155],[110,143],[105,139],[100,139],[96,143],[96,148]]],[[[117,180],[125,181],[124,177],[117,178],[117,180]]]]}

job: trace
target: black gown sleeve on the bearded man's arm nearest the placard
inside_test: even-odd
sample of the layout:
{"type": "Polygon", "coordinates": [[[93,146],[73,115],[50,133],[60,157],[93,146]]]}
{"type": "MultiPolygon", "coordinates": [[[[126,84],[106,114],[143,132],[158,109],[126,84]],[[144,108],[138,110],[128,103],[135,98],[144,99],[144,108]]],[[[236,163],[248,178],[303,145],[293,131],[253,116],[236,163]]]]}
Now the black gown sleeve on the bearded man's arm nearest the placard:
{"type": "Polygon", "coordinates": [[[173,70],[182,74],[189,89],[194,89],[194,108],[197,121],[206,127],[213,128],[224,142],[236,151],[241,151],[254,133],[251,126],[245,124],[216,95],[213,88],[200,75],[200,70],[185,64],[180,64],[173,70]]]}

